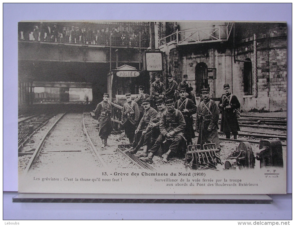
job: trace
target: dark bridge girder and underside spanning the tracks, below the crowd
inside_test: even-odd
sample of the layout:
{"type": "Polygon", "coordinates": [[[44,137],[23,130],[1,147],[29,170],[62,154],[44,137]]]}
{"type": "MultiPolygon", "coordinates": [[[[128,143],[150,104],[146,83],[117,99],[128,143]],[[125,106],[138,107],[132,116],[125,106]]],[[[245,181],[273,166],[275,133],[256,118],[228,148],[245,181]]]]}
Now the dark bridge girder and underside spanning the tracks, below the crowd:
{"type": "MultiPolygon", "coordinates": [[[[124,64],[140,69],[138,46],[83,45],[45,41],[19,41],[19,106],[33,104],[34,87],[91,88],[93,102],[107,91],[107,74],[124,64]]],[[[64,98],[60,98],[63,100],[64,98]]]]}

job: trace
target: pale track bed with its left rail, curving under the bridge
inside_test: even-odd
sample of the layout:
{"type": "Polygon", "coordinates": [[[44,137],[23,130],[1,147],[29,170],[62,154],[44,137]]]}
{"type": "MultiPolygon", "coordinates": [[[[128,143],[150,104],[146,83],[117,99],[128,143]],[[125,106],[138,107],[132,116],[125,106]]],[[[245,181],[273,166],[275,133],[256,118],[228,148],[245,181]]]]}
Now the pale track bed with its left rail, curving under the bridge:
{"type": "Polygon", "coordinates": [[[89,170],[98,166],[106,166],[103,159],[95,152],[97,150],[93,144],[89,145],[90,141],[86,140],[83,135],[84,127],[76,123],[82,120],[81,114],[63,113],[59,115],[38,143],[24,172],[27,173],[36,167],[46,172],[57,170],[69,170],[70,172],[76,169],[76,165],[81,165],[81,169],[89,170]]]}

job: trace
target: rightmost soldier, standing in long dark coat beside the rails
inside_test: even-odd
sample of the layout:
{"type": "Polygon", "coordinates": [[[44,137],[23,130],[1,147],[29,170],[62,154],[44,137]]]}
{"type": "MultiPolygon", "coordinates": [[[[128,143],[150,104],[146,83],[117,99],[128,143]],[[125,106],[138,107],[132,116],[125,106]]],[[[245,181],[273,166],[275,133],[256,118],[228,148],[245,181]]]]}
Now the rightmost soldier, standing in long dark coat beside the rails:
{"type": "Polygon", "coordinates": [[[221,109],[220,131],[225,133],[228,139],[232,132],[234,139],[236,139],[240,127],[234,110],[240,108],[241,104],[238,98],[230,93],[229,88],[228,84],[223,85],[225,94],[221,96],[219,102],[219,108],[221,109]]]}

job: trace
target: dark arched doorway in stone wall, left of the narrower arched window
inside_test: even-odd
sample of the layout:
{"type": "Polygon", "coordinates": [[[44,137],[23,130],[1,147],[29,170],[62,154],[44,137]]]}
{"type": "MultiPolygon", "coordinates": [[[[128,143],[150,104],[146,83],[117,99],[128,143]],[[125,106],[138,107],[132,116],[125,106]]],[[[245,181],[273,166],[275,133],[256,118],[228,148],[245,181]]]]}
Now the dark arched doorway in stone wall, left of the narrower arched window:
{"type": "Polygon", "coordinates": [[[196,81],[196,96],[200,97],[201,90],[203,88],[209,88],[208,84],[208,66],[204,62],[200,62],[196,66],[195,70],[196,81]]]}

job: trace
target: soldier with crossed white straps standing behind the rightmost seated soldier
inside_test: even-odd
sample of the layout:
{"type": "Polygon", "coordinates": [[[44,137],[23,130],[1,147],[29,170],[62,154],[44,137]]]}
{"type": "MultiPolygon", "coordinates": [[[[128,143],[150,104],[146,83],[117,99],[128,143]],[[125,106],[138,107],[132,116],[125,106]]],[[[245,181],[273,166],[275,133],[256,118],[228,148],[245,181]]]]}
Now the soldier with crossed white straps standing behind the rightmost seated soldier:
{"type": "Polygon", "coordinates": [[[184,129],[184,137],[186,139],[186,144],[192,144],[192,138],[195,138],[195,132],[193,129],[193,114],[197,113],[197,106],[189,98],[186,98],[186,89],[180,88],[179,90],[180,99],[175,103],[175,108],[181,111],[184,116],[186,123],[184,129]]]}

